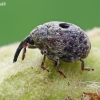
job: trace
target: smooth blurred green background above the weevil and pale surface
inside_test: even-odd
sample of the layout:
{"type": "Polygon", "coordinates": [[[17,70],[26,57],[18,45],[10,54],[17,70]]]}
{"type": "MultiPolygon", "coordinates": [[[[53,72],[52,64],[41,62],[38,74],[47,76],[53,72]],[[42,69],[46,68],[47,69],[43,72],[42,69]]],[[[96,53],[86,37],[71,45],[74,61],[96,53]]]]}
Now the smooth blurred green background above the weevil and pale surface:
{"type": "Polygon", "coordinates": [[[0,0],[0,46],[23,40],[37,25],[66,21],[100,27],[100,0],[0,0]]]}

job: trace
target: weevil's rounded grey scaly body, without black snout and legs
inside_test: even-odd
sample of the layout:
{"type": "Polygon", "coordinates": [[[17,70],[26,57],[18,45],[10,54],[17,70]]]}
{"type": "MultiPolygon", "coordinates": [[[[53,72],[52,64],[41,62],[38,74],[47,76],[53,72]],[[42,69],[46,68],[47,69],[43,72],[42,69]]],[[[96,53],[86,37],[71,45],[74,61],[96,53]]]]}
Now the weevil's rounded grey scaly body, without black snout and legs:
{"type": "Polygon", "coordinates": [[[46,49],[47,56],[55,55],[65,62],[87,57],[90,41],[78,26],[64,22],[48,22],[31,32],[34,44],[40,50],[46,49]]]}

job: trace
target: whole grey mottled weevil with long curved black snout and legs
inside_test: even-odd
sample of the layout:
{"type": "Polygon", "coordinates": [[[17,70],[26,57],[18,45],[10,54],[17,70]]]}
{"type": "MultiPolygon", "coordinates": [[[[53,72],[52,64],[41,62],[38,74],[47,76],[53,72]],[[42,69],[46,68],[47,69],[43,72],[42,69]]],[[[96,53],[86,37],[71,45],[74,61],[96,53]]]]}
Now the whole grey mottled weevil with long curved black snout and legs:
{"type": "Polygon", "coordinates": [[[45,66],[46,57],[55,63],[57,72],[66,78],[60,70],[60,61],[81,62],[82,70],[94,70],[84,66],[91,49],[91,43],[85,32],[75,24],[69,22],[51,21],[34,28],[18,46],[13,62],[17,61],[20,51],[23,49],[22,60],[25,58],[26,47],[38,48],[43,55],[41,68],[49,71],[45,66]]]}

